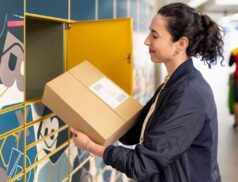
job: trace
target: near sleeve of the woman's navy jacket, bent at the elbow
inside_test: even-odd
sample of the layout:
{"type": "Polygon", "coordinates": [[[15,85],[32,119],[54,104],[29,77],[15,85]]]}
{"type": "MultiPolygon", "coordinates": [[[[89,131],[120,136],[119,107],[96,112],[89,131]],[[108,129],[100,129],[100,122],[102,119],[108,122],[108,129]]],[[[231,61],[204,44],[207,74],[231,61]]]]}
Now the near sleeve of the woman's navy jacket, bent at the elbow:
{"type": "Polygon", "coordinates": [[[158,174],[181,156],[200,133],[205,106],[198,95],[191,89],[174,91],[162,114],[154,118],[156,124],[145,135],[144,143],[135,149],[108,146],[103,155],[105,164],[137,180],[158,174]]]}

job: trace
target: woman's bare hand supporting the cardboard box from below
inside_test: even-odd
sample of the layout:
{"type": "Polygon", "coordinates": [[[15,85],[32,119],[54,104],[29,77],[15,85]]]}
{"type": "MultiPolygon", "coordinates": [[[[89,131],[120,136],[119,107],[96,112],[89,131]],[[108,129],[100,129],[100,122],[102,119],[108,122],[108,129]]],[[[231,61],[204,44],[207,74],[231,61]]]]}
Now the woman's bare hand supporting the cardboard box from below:
{"type": "Polygon", "coordinates": [[[74,128],[70,128],[70,131],[73,133],[73,142],[76,147],[79,147],[100,157],[103,156],[106,148],[105,146],[94,143],[87,135],[74,128]]]}

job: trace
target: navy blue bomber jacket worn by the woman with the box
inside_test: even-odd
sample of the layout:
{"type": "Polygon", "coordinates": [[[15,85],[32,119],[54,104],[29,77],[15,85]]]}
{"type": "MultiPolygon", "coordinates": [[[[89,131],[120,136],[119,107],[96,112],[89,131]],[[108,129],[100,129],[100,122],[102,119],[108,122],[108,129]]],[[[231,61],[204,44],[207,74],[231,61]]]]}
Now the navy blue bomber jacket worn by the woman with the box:
{"type": "Polygon", "coordinates": [[[120,141],[135,149],[110,145],[103,159],[128,177],[144,182],[220,182],[217,164],[218,121],[212,90],[191,59],[182,63],[161,91],[141,128],[155,95],[136,125],[120,141]]]}

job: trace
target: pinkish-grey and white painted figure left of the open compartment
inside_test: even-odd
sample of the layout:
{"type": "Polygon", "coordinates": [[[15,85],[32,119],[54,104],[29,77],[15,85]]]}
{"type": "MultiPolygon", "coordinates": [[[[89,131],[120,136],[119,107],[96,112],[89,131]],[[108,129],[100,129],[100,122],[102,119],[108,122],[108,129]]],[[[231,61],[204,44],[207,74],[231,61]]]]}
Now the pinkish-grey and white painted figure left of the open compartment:
{"type": "Polygon", "coordinates": [[[4,38],[5,34],[0,37],[0,109],[24,100],[24,46],[10,31],[4,38]]]}

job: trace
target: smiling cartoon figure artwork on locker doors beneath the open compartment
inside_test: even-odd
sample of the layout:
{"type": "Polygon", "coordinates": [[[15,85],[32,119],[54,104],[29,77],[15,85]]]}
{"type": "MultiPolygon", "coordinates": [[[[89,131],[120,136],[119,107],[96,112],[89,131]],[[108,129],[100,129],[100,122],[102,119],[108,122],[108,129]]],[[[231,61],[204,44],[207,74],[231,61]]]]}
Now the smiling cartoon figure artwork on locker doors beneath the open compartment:
{"type": "MultiPolygon", "coordinates": [[[[28,106],[29,114],[27,122],[36,121],[46,116],[51,111],[41,103],[28,106]]],[[[62,181],[68,176],[68,151],[67,145],[56,153],[54,151],[68,141],[68,130],[64,127],[64,122],[56,116],[43,119],[41,122],[33,125],[35,138],[38,142],[36,147],[35,161],[40,163],[34,168],[34,177],[36,181],[62,181]],[[59,132],[60,128],[62,128],[59,132]],[[54,153],[54,154],[53,154],[54,153]],[[47,157],[48,154],[53,154],[47,157]]],[[[31,142],[27,142],[30,145],[31,142]]]]}

